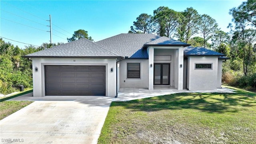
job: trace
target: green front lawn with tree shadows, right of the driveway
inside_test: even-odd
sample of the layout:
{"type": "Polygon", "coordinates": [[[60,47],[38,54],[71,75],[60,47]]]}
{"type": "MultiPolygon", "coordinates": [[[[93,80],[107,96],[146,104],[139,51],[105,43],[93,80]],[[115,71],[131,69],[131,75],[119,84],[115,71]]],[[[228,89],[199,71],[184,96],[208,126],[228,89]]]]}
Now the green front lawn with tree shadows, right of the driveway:
{"type": "Polygon", "coordinates": [[[98,143],[256,143],[256,93],[232,89],[112,102],[98,143]]]}

